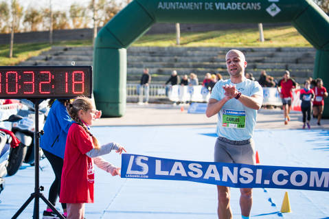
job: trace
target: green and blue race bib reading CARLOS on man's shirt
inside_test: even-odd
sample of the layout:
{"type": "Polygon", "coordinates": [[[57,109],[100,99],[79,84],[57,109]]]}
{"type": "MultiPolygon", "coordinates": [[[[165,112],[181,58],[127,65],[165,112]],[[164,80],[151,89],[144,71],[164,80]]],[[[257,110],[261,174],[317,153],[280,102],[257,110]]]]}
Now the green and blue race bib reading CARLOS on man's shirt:
{"type": "Polygon", "coordinates": [[[246,111],[223,110],[222,124],[225,128],[245,128],[246,111]]]}

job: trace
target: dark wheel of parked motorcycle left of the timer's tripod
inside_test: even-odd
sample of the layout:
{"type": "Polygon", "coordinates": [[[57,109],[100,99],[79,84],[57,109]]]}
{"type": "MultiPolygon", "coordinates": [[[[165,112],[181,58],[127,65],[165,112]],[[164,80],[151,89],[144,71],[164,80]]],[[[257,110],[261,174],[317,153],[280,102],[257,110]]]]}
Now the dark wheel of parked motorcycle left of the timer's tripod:
{"type": "Polygon", "coordinates": [[[23,158],[26,154],[26,146],[22,143],[19,144],[16,148],[10,148],[8,165],[7,165],[7,174],[8,176],[14,175],[23,163],[23,158]]]}

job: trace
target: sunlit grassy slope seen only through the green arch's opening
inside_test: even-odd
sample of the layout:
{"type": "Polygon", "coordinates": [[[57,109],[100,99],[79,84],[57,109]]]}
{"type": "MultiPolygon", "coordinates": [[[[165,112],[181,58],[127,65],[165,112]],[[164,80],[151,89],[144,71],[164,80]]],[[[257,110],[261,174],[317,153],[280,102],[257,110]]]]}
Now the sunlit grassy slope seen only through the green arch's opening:
{"type": "MultiPolygon", "coordinates": [[[[265,42],[259,41],[258,28],[222,30],[206,33],[182,33],[182,47],[311,47],[295,27],[264,28],[265,42]]],[[[176,45],[175,34],[145,35],[133,46],[172,47],[176,45]]]]}

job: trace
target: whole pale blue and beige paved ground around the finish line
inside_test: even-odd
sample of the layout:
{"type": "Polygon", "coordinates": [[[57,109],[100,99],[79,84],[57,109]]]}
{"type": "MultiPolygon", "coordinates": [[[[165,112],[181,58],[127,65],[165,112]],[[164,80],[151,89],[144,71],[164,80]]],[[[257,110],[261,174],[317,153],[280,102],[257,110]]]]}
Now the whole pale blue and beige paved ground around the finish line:
{"type": "MultiPolygon", "coordinates": [[[[116,141],[131,154],[152,157],[212,161],[216,117],[189,114],[187,106],[128,104],[121,118],[99,119],[91,128],[100,143],[116,141]]],[[[293,112],[284,126],[282,111],[260,110],[254,139],[261,165],[328,168],[329,121],[312,130],[300,130],[301,113],[293,112]],[[317,130],[315,130],[317,128],[317,130]]],[[[312,124],[314,122],[312,121],[312,124]]],[[[112,152],[104,159],[121,165],[121,157],[112,152]]],[[[54,180],[47,159],[40,163],[40,185],[48,196],[54,180]]],[[[216,187],[187,181],[163,181],[113,177],[95,168],[95,203],[86,205],[87,219],[214,219],[216,187]]],[[[34,167],[23,164],[14,176],[5,177],[0,194],[0,218],[12,218],[34,191],[34,167]]],[[[234,218],[240,218],[239,190],[231,189],[234,218]]],[[[251,218],[328,219],[328,192],[293,189],[253,189],[251,218]],[[281,214],[284,193],[288,192],[291,213],[281,214]]],[[[19,218],[32,218],[33,202],[19,218]]],[[[40,216],[45,203],[40,200],[40,216]]],[[[56,207],[60,207],[58,203],[56,207]]]]}

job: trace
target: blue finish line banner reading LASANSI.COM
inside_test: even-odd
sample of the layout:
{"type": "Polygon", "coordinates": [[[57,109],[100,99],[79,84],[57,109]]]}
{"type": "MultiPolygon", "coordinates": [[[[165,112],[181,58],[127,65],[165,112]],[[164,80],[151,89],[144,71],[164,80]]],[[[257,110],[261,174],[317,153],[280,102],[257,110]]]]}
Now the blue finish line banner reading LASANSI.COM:
{"type": "Polygon", "coordinates": [[[137,154],[122,154],[121,177],[192,181],[240,188],[329,191],[327,168],[181,161],[137,154]]]}

